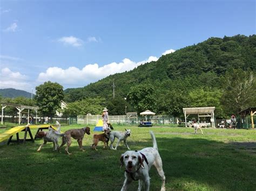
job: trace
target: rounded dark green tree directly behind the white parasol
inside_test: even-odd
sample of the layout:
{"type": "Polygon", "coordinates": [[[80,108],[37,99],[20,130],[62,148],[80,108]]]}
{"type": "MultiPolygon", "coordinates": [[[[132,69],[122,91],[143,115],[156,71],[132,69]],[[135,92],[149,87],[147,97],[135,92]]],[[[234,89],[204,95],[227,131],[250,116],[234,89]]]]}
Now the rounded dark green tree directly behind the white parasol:
{"type": "Polygon", "coordinates": [[[127,100],[138,112],[156,109],[156,95],[151,84],[139,84],[130,88],[127,100]]]}

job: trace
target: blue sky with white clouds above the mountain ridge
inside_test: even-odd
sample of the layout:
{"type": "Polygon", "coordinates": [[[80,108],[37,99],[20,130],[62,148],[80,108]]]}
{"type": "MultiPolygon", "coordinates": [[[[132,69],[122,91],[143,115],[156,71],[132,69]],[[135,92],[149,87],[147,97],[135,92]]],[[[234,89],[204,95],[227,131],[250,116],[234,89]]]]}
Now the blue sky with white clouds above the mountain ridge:
{"type": "Polygon", "coordinates": [[[0,2],[0,89],[83,87],[210,37],[256,31],[248,0],[0,2]]]}

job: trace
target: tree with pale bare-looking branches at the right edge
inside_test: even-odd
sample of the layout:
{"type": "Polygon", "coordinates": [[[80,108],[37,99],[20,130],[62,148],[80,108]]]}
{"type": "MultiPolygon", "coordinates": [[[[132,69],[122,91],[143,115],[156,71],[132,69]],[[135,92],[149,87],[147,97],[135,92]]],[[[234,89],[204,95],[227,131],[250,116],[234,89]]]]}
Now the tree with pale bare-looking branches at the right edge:
{"type": "Polygon", "coordinates": [[[255,106],[256,82],[253,72],[232,69],[222,81],[224,94],[221,103],[228,115],[238,114],[247,107],[255,106]]]}

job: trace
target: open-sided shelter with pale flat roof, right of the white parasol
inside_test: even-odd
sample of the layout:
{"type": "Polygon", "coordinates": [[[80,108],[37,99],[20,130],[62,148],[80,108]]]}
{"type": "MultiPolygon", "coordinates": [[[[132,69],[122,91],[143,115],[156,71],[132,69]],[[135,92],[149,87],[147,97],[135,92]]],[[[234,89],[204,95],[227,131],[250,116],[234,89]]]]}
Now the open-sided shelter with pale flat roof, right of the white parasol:
{"type": "Polygon", "coordinates": [[[190,114],[196,114],[198,116],[198,123],[199,123],[199,120],[200,120],[199,117],[211,117],[212,128],[215,128],[214,109],[215,109],[215,107],[183,108],[183,113],[184,113],[184,116],[185,116],[185,126],[187,127],[187,117],[190,114]]]}

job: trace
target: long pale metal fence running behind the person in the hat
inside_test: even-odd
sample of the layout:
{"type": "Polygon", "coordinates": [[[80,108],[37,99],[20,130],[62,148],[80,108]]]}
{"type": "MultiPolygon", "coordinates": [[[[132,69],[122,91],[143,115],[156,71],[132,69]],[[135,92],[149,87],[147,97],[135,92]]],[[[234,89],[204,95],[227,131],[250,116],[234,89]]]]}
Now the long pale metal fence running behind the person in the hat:
{"type": "MultiPolygon", "coordinates": [[[[77,124],[83,125],[96,125],[102,119],[102,115],[85,115],[77,116],[77,124]]],[[[174,124],[177,121],[177,118],[172,116],[109,116],[109,121],[111,124],[119,125],[138,125],[140,121],[150,121],[153,124],[174,124]]]]}

